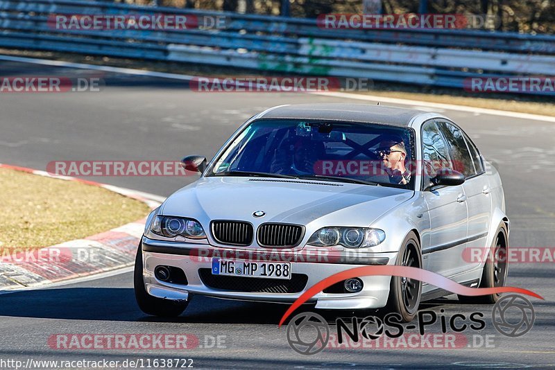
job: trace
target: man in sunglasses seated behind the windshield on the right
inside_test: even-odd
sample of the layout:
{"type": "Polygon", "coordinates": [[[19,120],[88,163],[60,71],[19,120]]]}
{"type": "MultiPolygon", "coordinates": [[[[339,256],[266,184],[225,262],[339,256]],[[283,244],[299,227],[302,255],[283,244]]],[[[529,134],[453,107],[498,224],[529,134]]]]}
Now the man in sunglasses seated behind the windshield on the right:
{"type": "Polygon", "coordinates": [[[391,184],[406,185],[411,181],[411,172],[404,166],[407,149],[401,136],[383,136],[376,152],[382,159],[382,166],[389,176],[391,184]]]}

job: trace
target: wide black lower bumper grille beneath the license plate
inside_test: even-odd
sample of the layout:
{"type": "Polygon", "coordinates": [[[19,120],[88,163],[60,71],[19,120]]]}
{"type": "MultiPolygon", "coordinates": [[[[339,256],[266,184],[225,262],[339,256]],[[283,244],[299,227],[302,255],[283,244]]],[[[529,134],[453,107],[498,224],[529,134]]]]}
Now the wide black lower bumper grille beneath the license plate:
{"type": "Polygon", "coordinates": [[[219,290],[232,292],[257,292],[257,293],[298,293],[307,286],[308,276],[305,274],[292,274],[291,280],[264,279],[244,276],[212,275],[210,269],[199,269],[198,276],[204,285],[219,290]]]}

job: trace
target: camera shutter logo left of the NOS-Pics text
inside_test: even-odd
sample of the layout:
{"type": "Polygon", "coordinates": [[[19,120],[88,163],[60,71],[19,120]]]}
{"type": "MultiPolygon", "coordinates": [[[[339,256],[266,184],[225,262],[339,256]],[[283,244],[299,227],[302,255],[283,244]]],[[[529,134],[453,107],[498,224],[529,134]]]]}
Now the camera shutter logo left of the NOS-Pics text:
{"type": "Polygon", "coordinates": [[[314,355],[330,340],[330,326],[320,315],[302,312],[293,317],[287,325],[287,342],[301,355],[314,355]]]}

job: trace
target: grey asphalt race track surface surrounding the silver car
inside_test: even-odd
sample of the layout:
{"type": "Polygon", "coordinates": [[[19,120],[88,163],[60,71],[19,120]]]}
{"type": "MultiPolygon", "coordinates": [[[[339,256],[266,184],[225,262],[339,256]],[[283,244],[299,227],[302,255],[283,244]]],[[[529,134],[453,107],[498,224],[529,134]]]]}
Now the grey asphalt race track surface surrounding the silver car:
{"type": "MultiPolygon", "coordinates": [[[[99,72],[0,62],[0,75],[99,76],[99,72]]],[[[352,101],[309,94],[197,93],[187,90],[182,81],[100,75],[106,86],[96,93],[0,94],[0,162],[45,169],[55,160],[174,160],[189,154],[212,157],[240,123],[267,107],[352,101]]],[[[442,113],[459,123],[499,168],[511,218],[510,245],[553,246],[555,124],[456,110],[442,113]]],[[[194,180],[90,179],[160,195],[169,195],[194,180]]],[[[0,295],[0,359],[191,358],[197,369],[553,368],[554,272],[553,263],[510,266],[509,285],[545,297],[545,301],[531,299],[536,321],[522,337],[499,335],[490,324],[491,306],[461,304],[454,298],[422,305],[422,309],[436,312],[443,309],[447,315],[484,312],[488,325],[480,334],[495,335],[495,348],[325,349],[311,356],[292,351],[285,329],[278,328],[287,306],[194,297],[178,319],[155,319],[137,308],[132,274],[127,272],[0,295]],[[180,351],[67,351],[51,349],[47,344],[56,333],[191,333],[201,338],[201,344],[205,335],[224,335],[225,348],[204,345],[180,351]]],[[[320,313],[333,318],[333,312],[320,313]]]]}

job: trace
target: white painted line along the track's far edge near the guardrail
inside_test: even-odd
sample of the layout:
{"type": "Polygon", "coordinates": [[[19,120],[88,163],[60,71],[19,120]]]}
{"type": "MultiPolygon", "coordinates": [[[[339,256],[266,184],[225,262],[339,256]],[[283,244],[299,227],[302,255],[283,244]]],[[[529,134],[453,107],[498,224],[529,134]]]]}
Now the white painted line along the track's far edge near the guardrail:
{"type": "MultiPolygon", "coordinates": [[[[10,61],[10,62],[41,64],[41,65],[52,66],[52,67],[66,67],[66,68],[75,68],[75,69],[92,69],[92,70],[96,70],[96,71],[123,73],[123,74],[134,75],[134,76],[169,78],[169,79],[173,79],[173,80],[190,81],[193,78],[200,77],[200,76],[180,75],[178,73],[164,73],[164,72],[155,72],[155,71],[144,71],[142,69],[108,67],[108,66],[97,66],[97,65],[94,65],[94,64],[63,62],[63,61],[60,61],[60,60],[15,57],[15,56],[12,56],[12,55],[0,55],[0,60],[6,60],[6,61],[10,61]]],[[[430,102],[421,101],[421,100],[387,98],[387,97],[384,97],[384,96],[363,95],[363,94],[350,94],[350,93],[344,93],[344,92],[339,92],[339,91],[312,92],[312,93],[307,93],[307,94],[333,96],[335,98],[347,98],[347,99],[366,100],[366,101],[373,101],[373,102],[379,101],[381,103],[391,103],[391,104],[400,104],[400,105],[411,105],[411,106],[416,105],[418,107],[430,107],[430,108],[436,108],[436,109],[450,109],[450,110],[456,110],[456,111],[459,111],[459,112],[490,114],[490,115],[493,115],[493,116],[522,118],[522,119],[528,119],[528,120],[533,120],[533,121],[555,122],[555,117],[553,117],[553,116],[543,116],[543,115],[540,115],[540,114],[529,114],[529,113],[520,113],[520,112],[509,112],[509,111],[504,111],[504,110],[499,110],[499,109],[468,107],[466,105],[430,103],[430,102]]]]}

